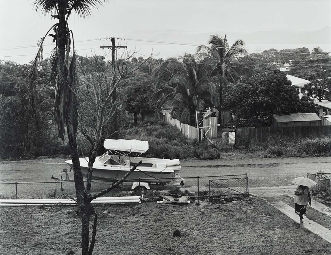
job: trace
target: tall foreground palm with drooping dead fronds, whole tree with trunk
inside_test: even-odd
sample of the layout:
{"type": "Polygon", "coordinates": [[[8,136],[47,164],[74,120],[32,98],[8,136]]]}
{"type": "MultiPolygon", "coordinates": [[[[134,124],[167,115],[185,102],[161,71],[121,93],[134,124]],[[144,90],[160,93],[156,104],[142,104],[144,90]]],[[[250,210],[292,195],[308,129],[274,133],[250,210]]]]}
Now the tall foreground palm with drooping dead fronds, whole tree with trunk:
{"type": "Polygon", "coordinates": [[[79,154],[76,142],[77,130],[77,88],[80,83],[79,69],[77,66],[76,52],[74,48],[73,32],[69,28],[68,18],[71,13],[85,18],[91,14],[92,9],[97,9],[99,4],[107,0],[34,0],[36,11],[40,10],[44,15],[50,14],[58,19],[38,42],[38,52],[32,64],[29,80],[30,101],[38,123],[37,112],[37,79],[39,64],[43,60],[43,43],[48,33],[53,30],[53,43],[56,43],[51,54],[50,83],[55,88],[54,117],[60,137],[64,140],[65,127],[67,128],[69,147],[73,165],[73,174],[77,201],[80,204],[82,217],[81,247],[82,254],[92,254],[95,237],[89,246],[88,230],[90,200],[87,192],[84,192],[82,172],[79,164],[79,154]],[[70,52],[72,51],[72,56],[70,52]]]}

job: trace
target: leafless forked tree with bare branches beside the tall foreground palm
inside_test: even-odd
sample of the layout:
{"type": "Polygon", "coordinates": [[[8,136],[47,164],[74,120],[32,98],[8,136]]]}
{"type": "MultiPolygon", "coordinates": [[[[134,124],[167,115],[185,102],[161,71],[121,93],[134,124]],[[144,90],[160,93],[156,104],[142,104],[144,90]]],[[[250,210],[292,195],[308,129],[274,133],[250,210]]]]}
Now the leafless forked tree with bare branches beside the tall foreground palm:
{"type": "Polygon", "coordinates": [[[102,146],[104,139],[114,134],[113,129],[110,127],[112,126],[112,117],[119,102],[113,101],[113,91],[123,79],[130,76],[152,56],[151,54],[144,62],[132,68],[130,59],[135,53],[135,51],[125,50],[120,55],[118,54],[115,62],[116,68],[113,68],[111,63],[106,63],[95,56],[96,64],[91,68],[92,70],[83,68],[81,70],[82,84],[77,90],[77,96],[83,110],[79,112],[78,132],[80,134],[78,135],[85,137],[90,144],[88,149],[87,182],[80,206],[82,213],[82,254],[92,254],[96,240],[98,216],[93,209],[91,201],[117,188],[141,163],[133,165],[122,179],[118,181],[114,180],[112,186],[99,193],[91,193],[93,164],[97,156],[97,151],[102,146]],[[94,214],[94,220],[92,225],[92,239],[89,244],[91,214],[94,214]]]}

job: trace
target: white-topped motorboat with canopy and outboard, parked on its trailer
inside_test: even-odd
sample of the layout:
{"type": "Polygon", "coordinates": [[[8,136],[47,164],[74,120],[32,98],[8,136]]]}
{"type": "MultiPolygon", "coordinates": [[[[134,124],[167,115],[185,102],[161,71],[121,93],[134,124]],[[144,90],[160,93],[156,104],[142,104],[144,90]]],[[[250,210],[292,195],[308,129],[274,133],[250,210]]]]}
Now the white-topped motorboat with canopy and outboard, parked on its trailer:
{"type": "MultiPolygon", "coordinates": [[[[96,157],[93,164],[94,180],[119,180],[134,164],[142,161],[125,181],[133,183],[132,189],[139,184],[146,189],[150,189],[151,184],[165,185],[172,182],[175,186],[184,185],[184,179],[179,175],[179,159],[139,157],[148,151],[148,141],[105,139],[104,147],[107,152],[96,157]]],[[[71,160],[67,160],[66,163],[72,167],[71,160]]],[[[87,177],[88,158],[80,158],[79,163],[83,176],[87,177]]]]}

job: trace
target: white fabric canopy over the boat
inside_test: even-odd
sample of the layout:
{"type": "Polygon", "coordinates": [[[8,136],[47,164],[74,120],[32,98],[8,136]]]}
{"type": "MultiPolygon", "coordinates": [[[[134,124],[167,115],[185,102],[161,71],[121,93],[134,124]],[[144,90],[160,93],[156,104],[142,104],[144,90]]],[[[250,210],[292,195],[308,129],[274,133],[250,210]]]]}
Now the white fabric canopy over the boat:
{"type": "Polygon", "coordinates": [[[148,141],[105,139],[104,147],[107,150],[144,153],[148,150],[148,141]]]}

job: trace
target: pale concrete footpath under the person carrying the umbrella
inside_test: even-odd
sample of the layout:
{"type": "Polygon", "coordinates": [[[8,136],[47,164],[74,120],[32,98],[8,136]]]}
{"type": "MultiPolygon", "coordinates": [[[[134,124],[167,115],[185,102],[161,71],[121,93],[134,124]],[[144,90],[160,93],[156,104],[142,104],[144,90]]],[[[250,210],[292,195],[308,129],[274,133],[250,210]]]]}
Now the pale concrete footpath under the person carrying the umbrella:
{"type": "MultiPolygon", "coordinates": [[[[275,198],[280,195],[293,197],[296,187],[297,186],[252,188],[250,189],[249,193],[255,197],[266,200],[269,204],[280,210],[295,222],[298,222],[304,228],[310,230],[312,233],[331,243],[331,230],[319,225],[312,220],[309,220],[307,217],[304,217],[304,223],[300,223],[299,217],[294,213],[293,207],[275,198]]],[[[311,207],[331,217],[330,208],[326,205],[321,204],[315,200],[311,200],[311,207]]]]}

